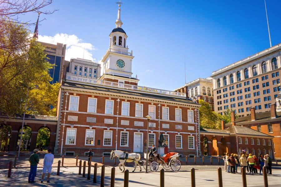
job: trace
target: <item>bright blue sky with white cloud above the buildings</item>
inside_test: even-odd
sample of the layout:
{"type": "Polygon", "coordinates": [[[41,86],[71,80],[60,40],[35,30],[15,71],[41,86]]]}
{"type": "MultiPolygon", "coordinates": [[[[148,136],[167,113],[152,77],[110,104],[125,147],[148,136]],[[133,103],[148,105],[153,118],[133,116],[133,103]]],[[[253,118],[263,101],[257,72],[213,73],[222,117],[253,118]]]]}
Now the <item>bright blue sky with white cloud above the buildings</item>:
{"type": "MultiPolygon", "coordinates": [[[[39,41],[67,44],[67,57],[99,62],[115,28],[117,0],[54,0],[59,9],[39,25],[39,41]],[[71,56],[72,55],[72,56],[71,56]]],[[[132,76],[139,85],[174,90],[270,47],[264,0],[122,0],[122,28],[133,50],[132,76]]],[[[267,0],[272,46],[281,43],[278,7],[267,0]]],[[[21,17],[36,21],[36,13],[21,17]]],[[[30,28],[34,30],[34,26],[30,28]]]]}

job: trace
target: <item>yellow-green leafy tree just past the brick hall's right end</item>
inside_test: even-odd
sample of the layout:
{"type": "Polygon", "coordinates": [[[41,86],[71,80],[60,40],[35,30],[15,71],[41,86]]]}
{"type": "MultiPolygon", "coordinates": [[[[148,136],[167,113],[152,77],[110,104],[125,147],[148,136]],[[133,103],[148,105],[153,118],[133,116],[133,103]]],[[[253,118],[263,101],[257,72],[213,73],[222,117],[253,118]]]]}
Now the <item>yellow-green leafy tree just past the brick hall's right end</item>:
{"type": "Polygon", "coordinates": [[[201,105],[199,108],[200,128],[218,129],[218,115],[211,110],[209,103],[201,99],[198,103],[201,105]]]}

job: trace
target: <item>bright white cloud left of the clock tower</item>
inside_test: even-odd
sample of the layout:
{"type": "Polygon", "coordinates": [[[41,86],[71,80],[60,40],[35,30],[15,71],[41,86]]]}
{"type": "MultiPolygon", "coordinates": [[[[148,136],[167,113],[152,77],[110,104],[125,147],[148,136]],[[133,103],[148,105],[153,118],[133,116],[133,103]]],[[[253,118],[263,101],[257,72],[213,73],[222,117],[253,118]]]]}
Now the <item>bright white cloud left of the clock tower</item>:
{"type": "Polygon", "coordinates": [[[82,39],[76,35],[56,34],[55,36],[41,36],[39,35],[38,41],[46,43],[63,43],[66,44],[65,60],[70,61],[71,58],[83,58],[87,60],[96,61],[91,54],[95,50],[95,46],[91,43],[82,42],[82,39]]]}

